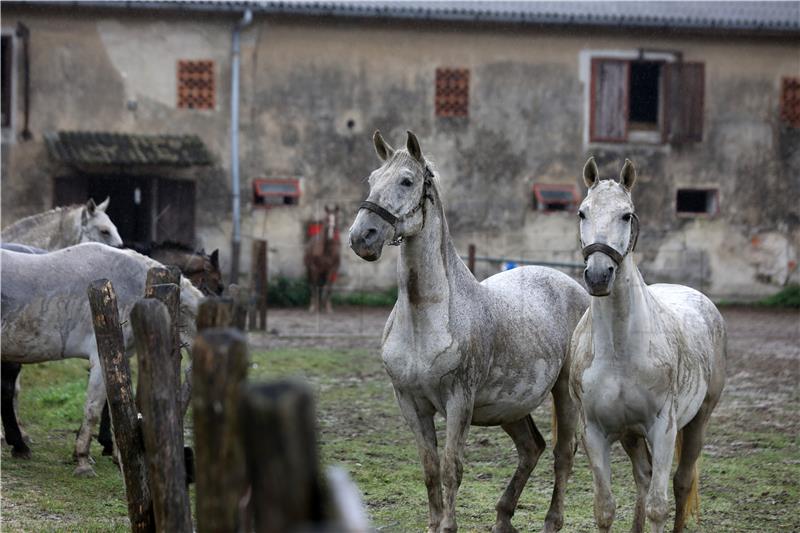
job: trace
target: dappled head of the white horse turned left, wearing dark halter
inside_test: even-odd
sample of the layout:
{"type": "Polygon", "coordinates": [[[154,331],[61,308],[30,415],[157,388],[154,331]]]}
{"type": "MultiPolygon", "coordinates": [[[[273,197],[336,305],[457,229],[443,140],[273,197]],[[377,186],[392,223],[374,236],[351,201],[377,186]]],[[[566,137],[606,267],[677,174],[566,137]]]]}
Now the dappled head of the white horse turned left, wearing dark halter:
{"type": "Polygon", "coordinates": [[[405,150],[394,150],[379,131],[373,141],[383,164],[370,174],[369,196],[350,227],[350,247],[367,261],[380,258],[387,241],[399,244],[419,233],[433,179],[419,141],[410,131],[405,150]]]}

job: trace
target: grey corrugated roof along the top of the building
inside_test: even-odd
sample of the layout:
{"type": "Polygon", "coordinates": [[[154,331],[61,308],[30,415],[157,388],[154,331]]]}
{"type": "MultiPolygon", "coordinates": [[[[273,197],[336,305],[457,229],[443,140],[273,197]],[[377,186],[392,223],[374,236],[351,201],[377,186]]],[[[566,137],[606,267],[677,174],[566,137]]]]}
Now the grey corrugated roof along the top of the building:
{"type": "MultiPolygon", "coordinates": [[[[4,2],[13,3],[13,2],[4,2]]],[[[38,4],[56,2],[37,2],[38,4]]],[[[190,9],[539,25],[673,29],[800,30],[800,1],[787,2],[491,2],[491,1],[269,1],[106,0],[58,2],[130,9],[190,9]]]]}

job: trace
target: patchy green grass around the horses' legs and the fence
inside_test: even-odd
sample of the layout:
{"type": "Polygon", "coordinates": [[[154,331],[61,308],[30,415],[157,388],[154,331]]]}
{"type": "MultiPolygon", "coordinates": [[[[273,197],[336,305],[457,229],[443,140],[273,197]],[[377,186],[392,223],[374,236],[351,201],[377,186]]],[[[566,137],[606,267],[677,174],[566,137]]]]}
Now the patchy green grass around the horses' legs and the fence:
{"type": "MultiPolygon", "coordinates": [[[[425,530],[427,496],[414,438],[376,352],[292,348],[254,352],[251,360],[251,379],[300,376],[314,388],[322,461],[350,472],[376,527],[397,533],[425,530]]],[[[96,443],[98,477],[72,476],[86,362],[30,365],[22,376],[21,416],[34,439],[34,458],[20,461],[11,458],[8,448],[2,452],[3,531],[129,530],[122,477],[110,458],[99,456],[96,443]]],[[[548,450],[514,516],[520,531],[541,529],[552,490],[549,403],[534,413],[534,420],[548,450]]],[[[443,422],[441,418],[436,422],[440,443],[444,442],[443,422]]],[[[800,530],[796,513],[800,437],[776,430],[734,435],[734,430],[712,419],[707,442],[714,444],[713,449],[724,448],[735,438],[743,451],[703,455],[701,523],[690,522],[687,531],[800,530]]],[[[460,531],[487,531],[493,524],[494,505],[516,463],[511,439],[501,429],[470,430],[457,500],[460,531]]],[[[635,489],[630,463],[619,445],[613,449],[612,472],[617,502],[614,530],[626,531],[633,517],[635,489]]],[[[567,489],[563,531],[595,531],[592,500],[591,474],[580,450],[567,489]]]]}

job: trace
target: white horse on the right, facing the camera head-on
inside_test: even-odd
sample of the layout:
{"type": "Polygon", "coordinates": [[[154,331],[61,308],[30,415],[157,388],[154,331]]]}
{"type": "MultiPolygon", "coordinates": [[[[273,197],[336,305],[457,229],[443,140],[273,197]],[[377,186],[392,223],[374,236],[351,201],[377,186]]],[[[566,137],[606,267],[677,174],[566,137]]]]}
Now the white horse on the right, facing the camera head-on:
{"type": "Polygon", "coordinates": [[[599,181],[594,158],[583,169],[589,192],[579,211],[584,278],[592,303],[571,343],[570,389],[581,407],[600,531],[614,519],[611,444],[620,440],[637,487],[633,531],[645,515],[661,532],[673,448],[674,531],[699,512],[697,459],[703,432],[725,383],[725,324],[701,293],[647,286],[630,253],[639,232],[625,160],[620,181],[599,181]],[[588,244],[587,244],[588,243],[588,244]]]}

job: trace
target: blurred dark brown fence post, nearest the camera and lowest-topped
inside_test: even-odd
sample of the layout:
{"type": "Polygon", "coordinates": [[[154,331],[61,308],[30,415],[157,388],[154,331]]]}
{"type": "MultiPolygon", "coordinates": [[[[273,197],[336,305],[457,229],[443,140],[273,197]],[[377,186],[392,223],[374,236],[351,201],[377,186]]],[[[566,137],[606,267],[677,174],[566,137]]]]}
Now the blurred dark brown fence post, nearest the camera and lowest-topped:
{"type": "Polygon", "coordinates": [[[309,388],[285,381],[242,393],[247,479],[257,533],[291,531],[324,520],[314,402],[309,388]]]}

